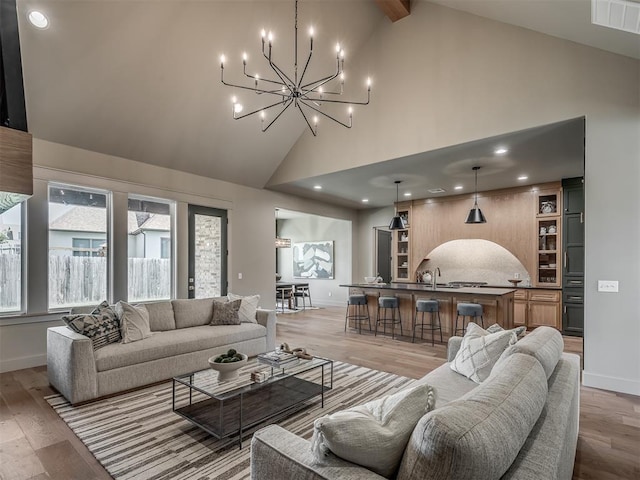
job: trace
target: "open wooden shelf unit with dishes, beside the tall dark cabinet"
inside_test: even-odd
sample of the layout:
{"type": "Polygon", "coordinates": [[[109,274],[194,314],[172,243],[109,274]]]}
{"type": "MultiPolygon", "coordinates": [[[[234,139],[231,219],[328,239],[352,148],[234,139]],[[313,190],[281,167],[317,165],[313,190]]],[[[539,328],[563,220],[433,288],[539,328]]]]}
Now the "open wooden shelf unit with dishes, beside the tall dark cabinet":
{"type": "Polygon", "coordinates": [[[562,216],[560,189],[536,195],[536,278],[538,287],[559,287],[562,277],[562,216]]]}

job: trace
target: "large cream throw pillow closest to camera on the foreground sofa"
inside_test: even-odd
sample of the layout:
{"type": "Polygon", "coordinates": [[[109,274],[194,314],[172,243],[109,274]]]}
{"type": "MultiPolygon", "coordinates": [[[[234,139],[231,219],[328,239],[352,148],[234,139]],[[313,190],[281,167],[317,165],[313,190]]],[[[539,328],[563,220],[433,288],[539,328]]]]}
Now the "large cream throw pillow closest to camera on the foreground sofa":
{"type": "Polygon", "coordinates": [[[436,393],[423,384],[318,418],[311,450],[322,462],[329,451],[384,477],[398,470],[418,420],[433,410],[436,393]]]}

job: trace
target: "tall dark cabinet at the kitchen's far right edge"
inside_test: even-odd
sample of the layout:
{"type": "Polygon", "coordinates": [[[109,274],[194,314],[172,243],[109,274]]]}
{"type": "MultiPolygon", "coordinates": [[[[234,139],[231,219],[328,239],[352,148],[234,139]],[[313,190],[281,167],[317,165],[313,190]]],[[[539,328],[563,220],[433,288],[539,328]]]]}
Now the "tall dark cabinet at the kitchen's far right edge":
{"type": "Polygon", "coordinates": [[[562,180],[562,333],[584,330],[584,179],[562,180]]]}

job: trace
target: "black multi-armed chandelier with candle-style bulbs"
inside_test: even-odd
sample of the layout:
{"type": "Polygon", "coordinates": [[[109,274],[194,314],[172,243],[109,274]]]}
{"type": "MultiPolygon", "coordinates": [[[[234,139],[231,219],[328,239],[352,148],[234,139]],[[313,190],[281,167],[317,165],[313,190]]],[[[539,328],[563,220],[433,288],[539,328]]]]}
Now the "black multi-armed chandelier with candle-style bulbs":
{"type": "Polygon", "coordinates": [[[262,55],[269,62],[269,67],[275,74],[276,79],[263,78],[258,74],[247,73],[247,54],[242,55],[242,65],[244,76],[253,81],[253,86],[238,85],[234,83],[225,82],[224,80],[224,63],[226,61],[225,56],[220,58],[220,81],[229,87],[240,88],[242,90],[249,90],[258,95],[272,95],[277,98],[274,103],[258,108],[249,113],[242,114],[242,104],[238,103],[238,99],[234,96],[233,102],[233,118],[239,120],[241,118],[248,117],[250,115],[260,114],[262,131],[266,132],[274,122],[280,118],[280,116],[290,107],[294,106],[302,114],[309,130],[314,136],[318,133],[318,116],[320,114],[334,122],[342,125],[346,128],[351,128],[353,120],[353,105],[368,105],[371,99],[371,80],[367,79],[367,101],[366,102],[354,102],[339,100],[336,96],[342,95],[344,90],[344,50],[338,44],[336,46],[336,71],[326,77],[318,80],[305,82],[305,74],[307,68],[311,62],[313,55],[313,29],[309,30],[310,42],[309,42],[309,55],[307,61],[302,69],[302,73],[298,76],[298,0],[295,2],[295,43],[294,43],[294,63],[293,63],[293,77],[287,75],[285,71],[276,65],[273,61],[272,49],[273,49],[273,34],[267,33],[262,30],[262,55]],[[332,80],[339,79],[339,91],[325,90],[324,86],[332,80]],[[327,112],[323,112],[321,107],[325,104],[343,104],[348,105],[347,108],[347,120],[341,121],[336,117],[330,115],[327,112]],[[267,111],[279,107],[278,113],[273,117],[271,121],[265,126],[267,120],[267,111]],[[312,118],[309,118],[313,115],[312,118]]]}

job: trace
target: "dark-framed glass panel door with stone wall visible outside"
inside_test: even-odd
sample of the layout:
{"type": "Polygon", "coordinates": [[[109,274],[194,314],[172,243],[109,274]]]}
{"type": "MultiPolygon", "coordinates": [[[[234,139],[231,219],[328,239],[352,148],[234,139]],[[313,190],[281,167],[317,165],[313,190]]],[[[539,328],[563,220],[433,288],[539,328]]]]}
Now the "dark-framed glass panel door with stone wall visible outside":
{"type": "Polygon", "coordinates": [[[189,205],[189,298],[227,294],[227,211],[189,205]]]}

